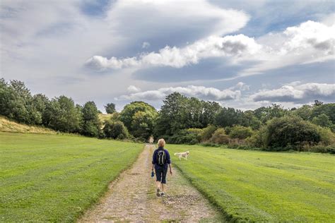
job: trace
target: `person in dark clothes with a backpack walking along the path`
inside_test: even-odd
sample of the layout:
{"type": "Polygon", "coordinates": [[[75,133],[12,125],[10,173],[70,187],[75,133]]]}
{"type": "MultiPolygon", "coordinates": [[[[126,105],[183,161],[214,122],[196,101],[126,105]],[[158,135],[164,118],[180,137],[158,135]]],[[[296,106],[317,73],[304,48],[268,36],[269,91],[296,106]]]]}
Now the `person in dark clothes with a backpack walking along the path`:
{"type": "MultiPolygon", "coordinates": [[[[153,152],[153,168],[155,168],[156,174],[156,195],[164,196],[166,192],[166,174],[167,167],[170,168],[170,174],[172,175],[172,167],[170,154],[164,148],[165,140],[161,138],[158,140],[158,149],[153,152]]],[[[153,171],[153,168],[151,169],[153,171]]]]}

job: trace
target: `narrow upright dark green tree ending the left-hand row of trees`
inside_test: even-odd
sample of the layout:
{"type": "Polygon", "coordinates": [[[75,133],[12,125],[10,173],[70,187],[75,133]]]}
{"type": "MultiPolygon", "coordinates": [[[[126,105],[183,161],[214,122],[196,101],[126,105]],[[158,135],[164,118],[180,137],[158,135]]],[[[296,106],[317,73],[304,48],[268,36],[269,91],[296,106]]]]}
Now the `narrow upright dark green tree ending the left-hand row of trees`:
{"type": "Polygon", "coordinates": [[[86,102],[81,112],[83,114],[82,134],[97,137],[100,131],[100,121],[95,102],[86,102]]]}

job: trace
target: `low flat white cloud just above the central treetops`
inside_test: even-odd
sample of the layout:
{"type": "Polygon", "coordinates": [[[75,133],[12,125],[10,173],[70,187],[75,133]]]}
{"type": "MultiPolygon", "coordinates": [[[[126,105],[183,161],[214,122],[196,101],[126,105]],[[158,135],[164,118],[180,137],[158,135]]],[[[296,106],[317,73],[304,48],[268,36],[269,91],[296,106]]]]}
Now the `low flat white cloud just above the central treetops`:
{"type": "MultiPolygon", "coordinates": [[[[244,83],[238,83],[236,88],[245,87],[244,83]]],[[[218,90],[217,88],[206,88],[204,86],[189,85],[187,87],[159,88],[158,90],[147,90],[143,92],[134,92],[129,95],[122,95],[115,100],[163,100],[172,92],[180,92],[189,97],[199,97],[204,100],[225,101],[234,100],[240,97],[241,91],[234,88],[218,90]]]]}

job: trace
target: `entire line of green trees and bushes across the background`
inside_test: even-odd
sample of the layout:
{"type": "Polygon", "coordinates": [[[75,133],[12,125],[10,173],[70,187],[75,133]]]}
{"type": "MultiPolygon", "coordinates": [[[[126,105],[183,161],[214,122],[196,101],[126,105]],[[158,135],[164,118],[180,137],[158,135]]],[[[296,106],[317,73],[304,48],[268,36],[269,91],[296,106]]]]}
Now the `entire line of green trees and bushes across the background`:
{"type": "Polygon", "coordinates": [[[146,102],[131,102],[119,113],[113,103],[105,109],[111,116],[102,122],[95,102],[79,105],[64,95],[49,100],[32,95],[19,80],[0,79],[1,115],[56,131],[136,141],[153,135],[168,143],[335,152],[335,104],[318,100],[293,109],[271,104],[241,111],[174,92],[165,97],[159,111],[146,102]]]}

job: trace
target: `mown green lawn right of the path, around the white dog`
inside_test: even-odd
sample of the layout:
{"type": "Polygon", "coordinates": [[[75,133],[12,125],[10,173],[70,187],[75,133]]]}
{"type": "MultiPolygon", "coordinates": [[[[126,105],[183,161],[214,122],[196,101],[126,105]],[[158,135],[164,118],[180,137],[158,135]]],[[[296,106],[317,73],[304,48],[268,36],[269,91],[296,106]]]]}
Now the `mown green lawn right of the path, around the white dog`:
{"type": "Polygon", "coordinates": [[[167,145],[175,164],[231,221],[334,222],[335,156],[167,145]]]}

